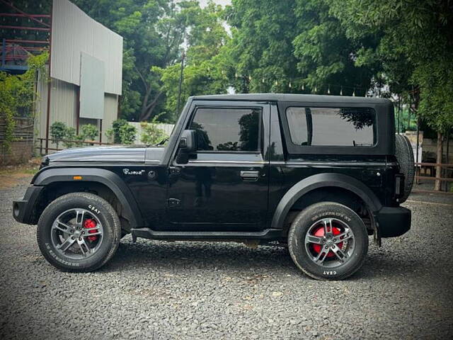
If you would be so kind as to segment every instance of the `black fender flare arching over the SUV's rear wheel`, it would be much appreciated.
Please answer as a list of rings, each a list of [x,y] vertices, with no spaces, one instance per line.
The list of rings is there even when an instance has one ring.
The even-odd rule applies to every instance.
[[[297,182],[285,193],[275,209],[271,228],[282,229],[289,209],[306,193],[317,188],[333,186],[344,188],[362,198],[373,213],[381,210],[382,204],[374,193],[361,181],[343,174],[316,174]]]

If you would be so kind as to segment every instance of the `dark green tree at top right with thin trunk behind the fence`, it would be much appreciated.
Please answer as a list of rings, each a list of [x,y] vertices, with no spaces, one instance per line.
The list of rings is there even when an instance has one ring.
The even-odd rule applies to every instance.
[[[364,49],[357,62],[379,60],[391,90],[437,130],[437,163],[442,135],[453,127],[453,3],[448,0],[328,0],[348,38],[374,35],[379,43]],[[437,166],[436,176],[441,177]],[[436,181],[435,190],[440,189]]]

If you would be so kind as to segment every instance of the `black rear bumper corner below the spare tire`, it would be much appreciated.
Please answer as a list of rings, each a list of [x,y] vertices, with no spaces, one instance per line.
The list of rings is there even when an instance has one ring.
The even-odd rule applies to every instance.
[[[374,216],[380,237],[397,237],[411,229],[411,210],[403,207],[384,207]]]

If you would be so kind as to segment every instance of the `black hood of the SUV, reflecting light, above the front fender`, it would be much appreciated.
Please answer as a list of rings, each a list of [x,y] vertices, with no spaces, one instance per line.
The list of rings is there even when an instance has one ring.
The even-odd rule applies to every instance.
[[[42,164],[52,162],[144,163],[146,151],[147,147],[144,145],[74,148],[48,154],[42,159]]]

